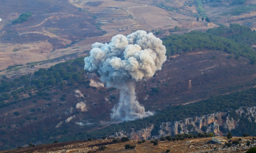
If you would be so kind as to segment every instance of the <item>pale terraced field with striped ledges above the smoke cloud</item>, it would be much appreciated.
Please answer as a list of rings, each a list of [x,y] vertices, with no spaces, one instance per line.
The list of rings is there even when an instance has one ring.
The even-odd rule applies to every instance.
[[[98,20],[98,27],[107,33],[125,30],[150,30],[148,26],[142,24],[123,8],[93,8],[89,11]]]

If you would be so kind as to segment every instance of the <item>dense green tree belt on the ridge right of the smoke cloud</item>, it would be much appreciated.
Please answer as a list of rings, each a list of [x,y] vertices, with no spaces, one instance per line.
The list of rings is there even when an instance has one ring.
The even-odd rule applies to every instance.
[[[224,37],[229,33],[229,37]],[[231,35],[231,33],[233,34]],[[256,62],[256,52],[250,44],[256,41],[255,38],[256,32],[251,31],[250,28],[239,24],[231,24],[229,28],[221,26],[209,29],[206,33],[192,31],[183,35],[171,35],[162,40],[163,45],[166,46],[168,57],[198,49],[210,49],[247,57],[251,60],[251,64],[254,64]]]

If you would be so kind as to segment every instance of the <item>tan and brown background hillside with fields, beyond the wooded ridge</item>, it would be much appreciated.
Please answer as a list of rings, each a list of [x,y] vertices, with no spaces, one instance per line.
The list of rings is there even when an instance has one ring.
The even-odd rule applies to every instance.
[[[69,55],[69,59],[76,58],[77,54],[85,56],[92,43],[108,42],[116,34],[127,35],[136,30],[152,31],[160,37],[192,30],[206,31],[219,25],[229,26],[230,23],[254,30],[256,4],[254,0],[242,2],[48,0],[45,3],[42,0],[2,0],[0,70],[32,62],[44,64],[33,69],[16,69],[18,72],[3,71],[0,75],[23,75],[49,68],[68,60],[64,55]],[[27,12],[32,16],[22,23],[12,24]],[[202,21],[201,17],[209,17],[211,23]]]

